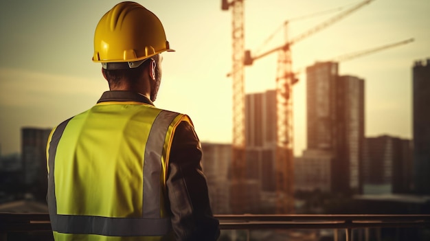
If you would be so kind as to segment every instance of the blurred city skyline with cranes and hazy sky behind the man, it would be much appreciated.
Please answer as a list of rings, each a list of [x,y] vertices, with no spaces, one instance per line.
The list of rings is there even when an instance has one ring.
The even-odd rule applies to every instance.
[[[215,214],[429,214],[430,1],[137,2]],[[108,90],[93,34],[116,3],[0,1],[0,211],[47,211],[47,135]]]

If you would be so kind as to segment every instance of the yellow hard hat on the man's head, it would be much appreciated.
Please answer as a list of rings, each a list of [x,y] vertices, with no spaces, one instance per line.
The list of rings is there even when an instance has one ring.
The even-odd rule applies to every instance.
[[[163,25],[139,3],[118,3],[102,16],[95,28],[93,62],[102,62],[104,67],[110,62],[130,65],[163,51],[174,51]]]

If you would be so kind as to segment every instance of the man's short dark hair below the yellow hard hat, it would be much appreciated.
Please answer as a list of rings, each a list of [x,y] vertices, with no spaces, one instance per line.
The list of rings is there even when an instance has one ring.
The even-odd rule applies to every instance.
[[[155,60],[158,63],[159,54],[152,56],[151,58],[146,59],[142,62],[137,68],[133,69],[102,69],[104,76],[106,76],[106,80],[109,83],[109,87],[115,87],[122,85],[122,82],[126,81],[129,84],[133,85],[139,79],[142,71],[150,65],[150,60]]]

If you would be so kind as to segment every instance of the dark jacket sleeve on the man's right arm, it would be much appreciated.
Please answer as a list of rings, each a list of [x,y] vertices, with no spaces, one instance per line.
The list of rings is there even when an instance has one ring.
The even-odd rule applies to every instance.
[[[170,150],[166,189],[176,240],[217,240],[219,222],[212,215],[202,150],[194,128],[181,122]]]

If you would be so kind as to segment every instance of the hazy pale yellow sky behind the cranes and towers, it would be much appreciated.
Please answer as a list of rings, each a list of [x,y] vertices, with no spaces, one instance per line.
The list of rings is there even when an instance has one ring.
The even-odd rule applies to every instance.
[[[108,89],[93,63],[93,33],[119,1],[0,0],[0,146],[20,152],[21,127],[52,128],[87,110]],[[163,22],[157,107],[190,115],[201,141],[231,141],[231,11],[220,0],[137,1]],[[282,44],[287,19],[350,7],[357,0],[245,0],[245,48]],[[365,79],[365,135],[411,138],[411,68],[430,58],[430,1],[375,0],[293,45],[293,69],[407,38],[413,43],[339,64],[341,74]],[[337,12],[291,21],[294,37]],[[265,40],[277,31],[273,40]],[[245,89],[274,89],[276,54],[247,67]],[[295,154],[306,148],[306,76],[294,87]]]

